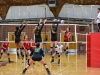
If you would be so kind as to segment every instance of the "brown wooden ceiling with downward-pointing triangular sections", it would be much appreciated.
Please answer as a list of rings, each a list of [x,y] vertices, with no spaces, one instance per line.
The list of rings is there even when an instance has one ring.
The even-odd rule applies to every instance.
[[[50,10],[55,17],[58,16],[61,8],[65,3],[77,5],[100,5],[100,0],[56,0],[57,6],[51,7]],[[7,12],[11,6],[27,6],[47,4],[48,0],[0,0],[0,17],[5,19]]]

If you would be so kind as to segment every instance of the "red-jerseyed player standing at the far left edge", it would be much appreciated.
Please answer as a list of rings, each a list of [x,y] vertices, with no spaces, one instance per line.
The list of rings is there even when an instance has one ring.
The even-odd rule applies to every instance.
[[[2,43],[0,58],[2,57],[3,52],[5,52],[8,56],[8,62],[10,63],[11,62],[10,54],[8,53],[9,42],[7,42],[7,41],[8,41],[8,38],[5,38],[5,42]]]

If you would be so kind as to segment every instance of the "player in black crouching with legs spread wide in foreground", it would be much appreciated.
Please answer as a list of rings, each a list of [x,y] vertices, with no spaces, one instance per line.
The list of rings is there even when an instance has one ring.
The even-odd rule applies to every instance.
[[[42,59],[42,56],[44,57],[44,52],[40,48],[40,44],[39,43],[36,43],[36,48],[34,50],[32,50],[30,56],[32,56],[32,59],[30,60],[29,64],[26,66],[26,68],[23,70],[22,74],[25,74],[25,72],[27,71],[27,69],[29,68],[29,66],[31,64],[33,64],[35,61],[38,61],[38,62],[40,62],[41,64],[44,65],[48,75],[51,75],[46,63]]]

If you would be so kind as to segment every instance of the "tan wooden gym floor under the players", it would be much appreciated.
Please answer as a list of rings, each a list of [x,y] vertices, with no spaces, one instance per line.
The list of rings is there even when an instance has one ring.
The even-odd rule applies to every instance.
[[[6,55],[3,55],[1,60],[7,61],[6,57]],[[11,55],[11,60],[15,61],[15,55]],[[52,64],[50,63],[49,54],[45,55],[44,60],[52,75],[100,75],[100,68],[86,67],[86,54],[69,55],[69,58],[62,54],[61,65],[57,64],[57,56]],[[25,65],[21,64],[21,59],[18,59],[17,63],[14,62],[0,67],[0,75],[22,75],[24,67]],[[47,73],[44,67],[36,62],[35,65],[31,65],[25,75],[47,75]]]

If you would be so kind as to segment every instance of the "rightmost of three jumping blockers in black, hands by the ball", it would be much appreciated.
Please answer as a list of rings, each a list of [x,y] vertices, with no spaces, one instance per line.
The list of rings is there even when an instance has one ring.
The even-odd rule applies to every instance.
[[[53,55],[53,46],[55,46],[55,50],[57,49],[57,29],[58,29],[59,20],[54,19],[53,25],[51,27],[51,43],[50,43],[50,52],[52,55],[51,62],[54,62],[54,55]],[[55,54],[55,53],[54,53]]]

